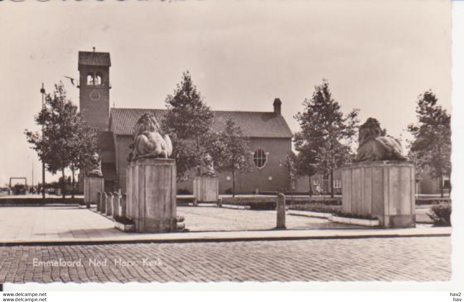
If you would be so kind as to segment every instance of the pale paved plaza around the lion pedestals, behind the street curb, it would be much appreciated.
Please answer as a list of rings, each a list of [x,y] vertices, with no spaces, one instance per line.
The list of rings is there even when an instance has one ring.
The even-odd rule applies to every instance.
[[[190,231],[270,230],[276,225],[275,211],[179,206]],[[109,218],[78,206],[0,207],[0,240],[58,240],[137,236],[114,228]],[[289,229],[353,229],[353,225],[327,219],[287,215]],[[362,228],[362,227],[359,227]]]

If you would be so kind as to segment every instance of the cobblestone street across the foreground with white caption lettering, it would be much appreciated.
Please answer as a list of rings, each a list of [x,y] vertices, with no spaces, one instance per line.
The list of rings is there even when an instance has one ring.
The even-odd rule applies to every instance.
[[[450,237],[13,246],[0,248],[0,283],[445,281],[450,253]]]

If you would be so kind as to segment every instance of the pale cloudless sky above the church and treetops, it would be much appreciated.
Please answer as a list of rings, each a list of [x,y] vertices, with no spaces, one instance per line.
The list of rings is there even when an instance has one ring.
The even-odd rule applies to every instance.
[[[449,0],[5,2],[0,9],[0,186],[40,177],[24,129],[39,129],[39,89],[78,90],[77,52],[111,54],[110,104],[164,108],[189,70],[213,110],[271,111],[292,131],[322,78],[346,113],[377,118],[398,137],[432,89],[451,109]],[[51,179],[51,177],[48,177]]]

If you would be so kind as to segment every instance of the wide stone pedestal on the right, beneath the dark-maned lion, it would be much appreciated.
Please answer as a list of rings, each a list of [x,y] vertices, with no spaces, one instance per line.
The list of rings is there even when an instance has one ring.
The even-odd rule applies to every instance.
[[[370,214],[385,228],[415,225],[414,189],[409,161],[366,161],[342,168],[343,212]]]

